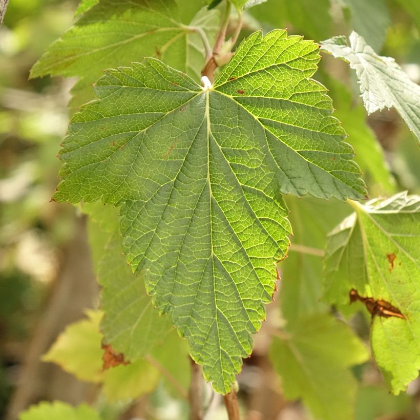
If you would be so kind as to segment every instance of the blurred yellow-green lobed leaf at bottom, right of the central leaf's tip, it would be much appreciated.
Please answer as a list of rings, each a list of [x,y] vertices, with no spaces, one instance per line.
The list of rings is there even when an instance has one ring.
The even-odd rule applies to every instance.
[[[301,398],[323,420],[353,418],[357,384],[349,367],[367,359],[351,329],[327,314],[301,318],[287,337],[275,337],[270,349],[285,397]]]

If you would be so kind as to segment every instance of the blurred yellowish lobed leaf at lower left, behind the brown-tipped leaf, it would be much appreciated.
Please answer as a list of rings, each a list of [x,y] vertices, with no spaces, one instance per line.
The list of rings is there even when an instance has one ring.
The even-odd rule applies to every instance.
[[[103,346],[101,347],[103,336],[99,332],[102,312],[91,310],[88,312],[88,316],[87,320],[70,324],[59,335],[56,342],[44,355],[43,360],[60,365],[62,369],[81,381],[102,384],[102,392],[110,403],[135,400],[140,395],[153,391],[159,380],[167,377],[162,376],[162,372],[166,375],[179,375],[182,385],[187,386],[187,353],[175,331],[167,336],[164,345],[155,346],[145,359],[137,359],[133,363],[123,362],[114,366],[109,365],[104,369],[102,366],[104,350]],[[106,347],[110,348],[110,346]],[[162,349],[165,353],[175,352],[177,358],[160,361]],[[180,371],[180,367],[183,371]],[[172,387],[172,384],[169,385]]]

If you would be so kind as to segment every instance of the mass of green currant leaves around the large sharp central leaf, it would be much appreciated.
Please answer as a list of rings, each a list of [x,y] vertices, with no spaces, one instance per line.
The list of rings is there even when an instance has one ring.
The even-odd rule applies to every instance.
[[[367,352],[329,305],[348,306],[355,289],[369,302],[401,311],[402,317],[368,316],[377,365],[394,393],[406,389],[420,368],[418,197],[350,201],[367,199],[367,190],[348,143],[380,191],[393,193],[395,182],[363,107],[352,108],[350,93],[331,81],[339,104],[333,116],[326,88],[311,79],[320,59],[313,41],[280,29],[250,33],[216,71],[213,85],[200,84],[209,53],[202,32],[213,46],[226,2],[207,2],[201,10],[191,3],[85,0],[76,24],[31,72],[78,76],[73,105],[93,97],[95,82],[96,99],[71,119],[54,199],[83,201],[90,216],[103,340],[134,366],[149,366],[152,358],[182,376],[159,347],[160,340],[174,340],[167,335],[173,324],[206,380],[227,393],[252,351],[251,334],[265,319],[279,270],[286,325],[275,334],[270,356],[285,395],[302,398],[316,417],[351,418],[357,387],[349,368],[365,362]],[[258,6],[254,16],[276,25],[281,6],[296,28],[317,39],[330,36],[328,1],[310,14],[307,0],[260,3],[229,4],[238,22],[243,8]],[[384,6],[372,27],[365,7],[382,0],[340,4],[350,10],[351,26],[372,34],[379,48],[389,13]],[[356,70],[368,113],[395,107],[420,138],[418,86],[392,59],[376,55],[355,32],[350,46],[334,37],[322,48]],[[290,225],[282,194],[351,206],[288,197],[295,213]],[[328,236],[324,280],[325,233],[352,207],[355,213]],[[280,263],[292,227],[290,258]],[[159,317],[167,312],[171,317]],[[71,370],[53,350],[49,360]],[[124,368],[115,377],[131,383]],[[159,375],[153,368],[149,373],[154,386]],[[106,382],[104,390],[117,392],[107,391]]]

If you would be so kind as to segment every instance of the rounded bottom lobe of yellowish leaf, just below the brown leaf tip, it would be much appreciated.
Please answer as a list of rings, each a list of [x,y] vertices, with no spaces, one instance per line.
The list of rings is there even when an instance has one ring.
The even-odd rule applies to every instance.
[[[103,393],[109,402],[135,400],[152,392],[160,379],[160,372],[146,360],[119,365],[103,372]]]

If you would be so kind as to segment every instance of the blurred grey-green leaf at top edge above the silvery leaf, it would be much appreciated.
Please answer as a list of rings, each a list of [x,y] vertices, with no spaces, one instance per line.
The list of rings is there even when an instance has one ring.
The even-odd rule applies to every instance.
[[[381,50],[391,18],[384,0],[340,0],[350,8],[351,29],[363,38],[369,39],[370,46]],[[374,18],[372,18],[374,16]]]

